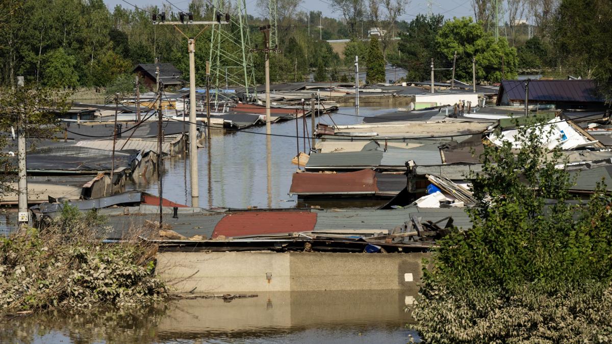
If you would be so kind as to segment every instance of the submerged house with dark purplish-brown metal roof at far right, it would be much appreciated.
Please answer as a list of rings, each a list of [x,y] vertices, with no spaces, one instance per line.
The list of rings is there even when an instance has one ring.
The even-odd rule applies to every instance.
[[[529,105],[550,104],[558,109],[601,110],[605,100],[593,80],[503,80],[496,105],[524,105],[529,82]]]

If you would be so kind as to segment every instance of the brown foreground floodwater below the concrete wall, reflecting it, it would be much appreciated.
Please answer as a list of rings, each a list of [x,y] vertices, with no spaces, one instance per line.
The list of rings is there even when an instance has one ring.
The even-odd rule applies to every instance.
[[[126,312],[48,312],[0,323],[0,342],[407,343],[417,338],[406,327],[411,297],[396,290],[266,292]]]

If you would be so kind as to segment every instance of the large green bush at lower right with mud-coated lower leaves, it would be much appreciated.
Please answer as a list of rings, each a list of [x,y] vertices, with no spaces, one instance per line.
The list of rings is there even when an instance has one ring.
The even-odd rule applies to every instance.
[[[516,140],[485,146],[475,176],[470,230],[439,241],[414,312],[425,341],[609,342],[612,327],[612,199],[600,187],[587,204],[568,193],[542,149],[542,122]],[[554,201],[551,201],[554,200]]]

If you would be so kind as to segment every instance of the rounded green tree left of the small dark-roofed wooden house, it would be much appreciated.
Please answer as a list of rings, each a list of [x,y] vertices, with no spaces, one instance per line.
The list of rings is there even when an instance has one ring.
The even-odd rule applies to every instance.
[[[63,48],[45,54],[43,84],[49,88],[75,88],[78,75],[75,71],[76,59],[65,53]]]

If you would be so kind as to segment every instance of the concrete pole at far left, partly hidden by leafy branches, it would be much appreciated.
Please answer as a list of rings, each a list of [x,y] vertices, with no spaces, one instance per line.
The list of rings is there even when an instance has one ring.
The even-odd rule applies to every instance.
[[[20,92],[21,88],[23,88],[23,77],[17,77],[17,92]],[[30,214],[28,212],[28,173],[26,166],[26,118],[24,118],[25,114],[19,112],[17,116],[19,116],[17,119],[17,168],[19,170],[17,224],[21,227],[29,224]]]

